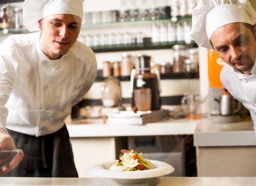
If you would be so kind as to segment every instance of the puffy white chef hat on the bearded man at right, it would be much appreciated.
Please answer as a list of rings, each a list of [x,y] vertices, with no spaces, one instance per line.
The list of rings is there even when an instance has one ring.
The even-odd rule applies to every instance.
[[[218,28],[229,23],[254,25],[256,12],[247,0],[201,0],[192,15],[191,37],[199,46],[212,48],[210,38]]]

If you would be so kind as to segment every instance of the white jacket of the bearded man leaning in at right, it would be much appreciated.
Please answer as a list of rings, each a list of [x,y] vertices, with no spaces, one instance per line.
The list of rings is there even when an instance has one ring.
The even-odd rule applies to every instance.
[[[252,75],[235,72],[233,67],[226,64],[222,67],[220,79],[230,94],[249,110],[256,131],[256,62],[251,73]]]

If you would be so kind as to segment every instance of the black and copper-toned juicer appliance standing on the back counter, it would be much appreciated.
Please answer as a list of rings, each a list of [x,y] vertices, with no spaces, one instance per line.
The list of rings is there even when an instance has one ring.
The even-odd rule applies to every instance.
[[[160,75],[150,67],[150,56],[140,55],[136,69],[131,73],[132,107],[138,111],[161,108]]]

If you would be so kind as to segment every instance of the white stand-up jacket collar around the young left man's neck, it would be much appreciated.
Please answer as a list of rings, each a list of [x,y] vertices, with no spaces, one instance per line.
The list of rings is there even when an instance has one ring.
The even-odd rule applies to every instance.
[[[68,53],[61,56],[61,58],[59,58],[58,60],[50,60],[49,57],[47,57],[41,47],[40,47],[40,36],[41,36],[41,31],[38,31],[37,32],[37,36],[36,36],[36,51],[37,51],[37,54],[38,54],[38,57],[39,57],[39,60],[41,62],[44,62],[44,61],[47,61],[47,62],[53,62],[53,63],[58,63],[58,62],[63,62],[63,58],[67,58],[70,56],[70,50],[71,48],[69,49]]]

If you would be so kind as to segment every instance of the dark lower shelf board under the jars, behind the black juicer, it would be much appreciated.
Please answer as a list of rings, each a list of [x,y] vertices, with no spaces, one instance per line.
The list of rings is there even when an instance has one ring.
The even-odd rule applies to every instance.
[[[98,70],[95,82],[102,82],[106,77],[102,77],[102,70]],[[120,81],[130,81],[130,76],[116,77]],[[161,80],[166,79],[198,79],[199,72],[180,72],[180,73],[170,73],[170,74],[160,74]]]

